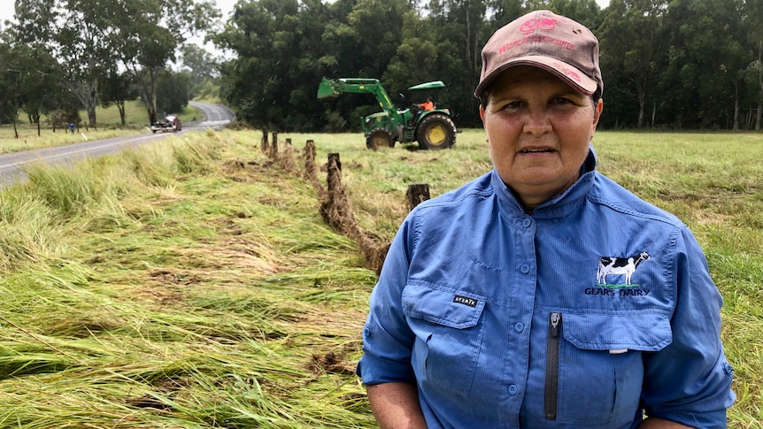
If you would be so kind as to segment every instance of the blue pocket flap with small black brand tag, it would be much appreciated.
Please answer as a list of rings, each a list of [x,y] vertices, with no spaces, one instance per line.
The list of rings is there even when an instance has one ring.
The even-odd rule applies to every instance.
[[[405,316],[456,329],[477,325],[485,308],[482,296],[418,284],[405,286],[402,301]]]

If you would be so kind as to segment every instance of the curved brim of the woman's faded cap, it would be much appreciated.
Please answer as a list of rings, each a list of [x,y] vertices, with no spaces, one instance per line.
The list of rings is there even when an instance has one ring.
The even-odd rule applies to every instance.
[[[528,56],[514,58],[512,61],[493,70],[480,82],[477,88],[474,89],[474,96],[478,98],[482,96],[485,89],[489,87],[493,80],[496,80],[499,74],[504,73],[506,70],[517,65],[531,65],[542,68],[547,72],[555,74],[559,79],[564,80],[569,86],[575,88],[586,96],[592,95],[596,92],[598,87],[596,80],[591,79],[588,75],[582,73],[572,65],[566,64],[564,61],[559,61],[559,59],[552,57]]]

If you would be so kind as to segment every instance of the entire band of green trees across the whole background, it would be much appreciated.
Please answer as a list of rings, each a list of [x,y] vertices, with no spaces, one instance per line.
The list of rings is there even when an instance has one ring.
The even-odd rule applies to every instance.
[[[481,50],[498,27],[550,9],[590,27],[605,80],[602,128],[760,130],[763,0],[240,0],[227,22],[210,0],[16,0],[0,33],[0,121],[19,110],[123,106],[139,96],[154,121],[187,101],[198,74],[173,71],[214,58],[189,35],[206,32],[230,59],[221,99],[250,126],[357,131],[379,111],[369,95],[319,100],[320,80],[375,78],[399,107],[406,88],[443,80],[438,105],[457,126],[481,126],[472,96]],[[194,65],[195,64],[195,65]],[[198,83],[197,81],[195,83]],[[123,107],[122,107],[123,108]],[[14,122],[15,123],[15,122]]]

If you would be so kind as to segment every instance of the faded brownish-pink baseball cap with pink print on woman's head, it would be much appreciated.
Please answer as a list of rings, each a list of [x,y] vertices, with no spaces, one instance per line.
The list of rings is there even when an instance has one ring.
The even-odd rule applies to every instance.
[[[588,96],[604,91],[598,40],[587,27],[552,11],[532,11],[499,28],[482,48],[482,73],[474,96],[514,65],[554,73]]]

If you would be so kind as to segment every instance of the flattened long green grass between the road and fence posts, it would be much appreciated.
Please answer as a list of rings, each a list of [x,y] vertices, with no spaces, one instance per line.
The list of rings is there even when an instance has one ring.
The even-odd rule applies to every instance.
[[[229,138],[4,192],[62,244],[0,279],[0,427],[373,426],[351,372],[374,274],[311,188]]]

